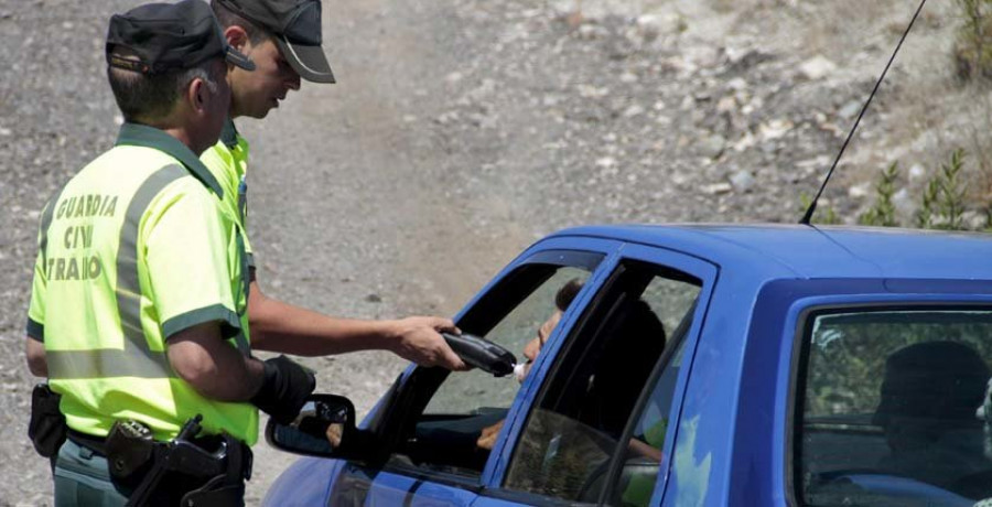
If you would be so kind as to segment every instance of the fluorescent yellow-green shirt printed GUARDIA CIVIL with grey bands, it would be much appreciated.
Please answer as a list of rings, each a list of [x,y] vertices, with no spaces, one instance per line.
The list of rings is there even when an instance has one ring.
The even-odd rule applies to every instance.
[[[257,440],[255,407],[203,398],[165,355],[170,336],[206,322],[249,354],[247,255],[224,194],[184,144],[126,123],[50,201],[28,334],[69,428],[106,435],[131,418],[169,440],[201,413],[207,434]]]

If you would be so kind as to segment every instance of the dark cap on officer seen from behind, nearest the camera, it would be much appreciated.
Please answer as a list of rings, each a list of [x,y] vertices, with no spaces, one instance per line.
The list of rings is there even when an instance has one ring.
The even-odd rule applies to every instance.
[[[138,60],[111,54],[126,47]],[[110,18],[107,63],[142,74],[190,68],[205,60],[225,57],[247,71],[255,63],[227,44],[211,7],[203,0],[147,3]]]

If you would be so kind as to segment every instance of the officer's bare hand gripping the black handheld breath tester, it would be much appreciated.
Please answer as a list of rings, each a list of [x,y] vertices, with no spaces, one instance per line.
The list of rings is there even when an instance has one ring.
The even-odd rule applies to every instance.
[[[393,330],[397,339],[391,350],[403,359],[420,366],[441,366],[455,371],[468,369],[440,334],[461,334],[451,320],[412,316],[395,321]]]

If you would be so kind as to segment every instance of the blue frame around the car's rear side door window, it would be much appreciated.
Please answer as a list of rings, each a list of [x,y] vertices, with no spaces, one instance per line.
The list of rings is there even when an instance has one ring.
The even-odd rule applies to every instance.
[[[656,478],[655,489],[651,495],[651,505],[656,505],[658,501],[660,501],[661,495],[664,494],[670,475],[672,464],[670,456],[673,455],[673,446],[678,435],[678,421],[681,417],[686,388],[692,370],[692,362],[696,356],[696,349],[699,345],[702,328],[705,324],[707,312],[709,310],[716,283],[719,281],[720,268],[718,265],[710,262],[709,260],[691,256],[676,249],[648,246],[636,242],[624,244],[617,250],[616,255],[612,259],[610,259],[608,266],[600,266],[600,270],[604,271],[604,280],[597,285],[594,294],[585,294],[586,296],[592,299],[592,301],[583,304],[581,309],[574,309],[575,313],[581,311],[581,314],[575,315],[573,313],[572,315],[572,317],[576,322],[572,323],[572,325],[570,325],[567,331],[562,330],[562,332],[567,334],[561,339],[558,339],[557,343],[552,344],[553,350],[549,350],[552,352],[552,354],[549,354],[549,357],[546,357],[541,365],[536,365],[533,370],[531,370],[531,375],[535,378],[541,379],[541,385],[533,386],[530,389],[530,392],[527,393],[528,396],[526,412],[516,413],[515,420],[511,423],[509,423],[508,421],[508,425],[511,424],[510,428],[504,428],[504,432],[508,431],[508,434],[504,439],[504,442],[502,442],[503,445],[500,449],[500,459],[497,462],[498,467],[496,471],[494,471],[492,481],[488,483],[489,486],[484,487],[479,492],[479,495],[498,499],[522,501],[532,505],[596,505],[576,503],[574,500],[565,500],[536,493],[508,489],[503,487],[503,484],[506,481],[509,463],[513,459],[513,453],[516,451],[516,445],[519,442],[520,433],[526,425],[527,418],[530,416],[530,412],[535,407],[535,400],[540,397],[543,388],[547,385],[546,381],[553,376],[553,371],[550,371],[550,369],[557,366],[556,359],[567,352],[563,350],[562,347],[564,347],[564,344],[570,342],[569,338],[571,338],[575,333],[581,333],[586,324],[586,319],[589,319],[590,315],[596,313],[597,306],[600,304],[604,304],[603,301],[600,301],[600,298],[610,290],[608,285],[611,284],[611,282],[615,281],[615,279],[622,274],[622,270],[624,269],[623,265],[625,261],[638,261],[656,265],[661,269],[668,269],[690,276],[699,280],[700,282],[697,303],[692,309],[692,321],[688,330],[686,330],[684,334],[680,337],[680,339],[684,342],[684,350],[682,353],[682,367],[679,370],[678,381],[676,382],[675,391],[672,393],[671,407],[669,408],[670,423],[668,429],[666,430],[665,444],[662,445],[662,461],[658,465],[658,477]],[[573,309],[570,309],[570,311],[572,310]],[[655,384],[660,378],[665,366],[669,364],[673,350],[676,350],[677,348],[678,343],[676,342],[671,342],[666,346],[666,350],[662,353],[661,357],[659,357],[658,363],[651,370],[645,389],[641,391],[641,395],[632,411],[632,417],[627,421],[623,436],[629,439],[629,435],[634,430],[634,425],[636,424],[636,421],[634,421],[634,419],[637,419],[640,416],[644,410],[644,406],[645,403],[647,403],[650,396],[651,389],[648,389],[647,387],[655,386]],[[540,357],[539,360],[541,360]],[[533,375],[535,373],[537,373],[538,375]],[[607,476],[607,481],[603,486],[603,490],[601,492],[599,505],[603,504],[604,499],[615,487],[615,483],[618,479],[619,456],[622,456],[623,454],[621,452],[621,449],[622,446],[617,449],[613,456],[611,456],[610,471],[607,472],[610,475]],[[494,452],[495,451],[496,449],[494,449]]]

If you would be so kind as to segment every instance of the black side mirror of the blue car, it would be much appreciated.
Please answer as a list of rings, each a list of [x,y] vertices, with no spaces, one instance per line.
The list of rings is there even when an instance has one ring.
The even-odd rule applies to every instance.
[[[367,460],[374,452],[368,435],[355,425],[352,400],[336,395],[310,395],[292,422],[269,419],[266,425],[266,441],[273,447],[319,457]]]

